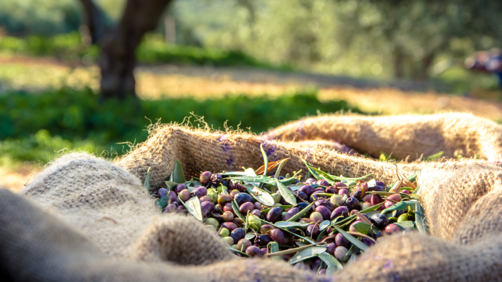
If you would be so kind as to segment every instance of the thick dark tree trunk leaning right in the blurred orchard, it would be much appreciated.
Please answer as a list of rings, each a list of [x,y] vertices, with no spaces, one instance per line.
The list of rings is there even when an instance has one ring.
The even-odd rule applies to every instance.
[[[136,97],[134,68],[136,48],[143,35],[159,23],[171,0],[129,0],[118,27],[103,40],[101,50],[101,98]]]

